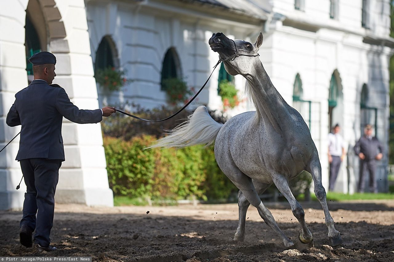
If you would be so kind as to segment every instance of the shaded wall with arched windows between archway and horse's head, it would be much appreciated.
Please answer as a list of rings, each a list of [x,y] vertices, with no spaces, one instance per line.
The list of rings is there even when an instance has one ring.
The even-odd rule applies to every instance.
[[[127,71],[127,78],[133,80],[121,92],[108,94],[98,87],[100,105],[129,102],[153,108],[165,104],[165,92],[160,90],[160,77],[165,52],[171,47],[177,51],[181,76],[197,92],[218,60],[217,53],[208,45],[212,33],[223,32],[230,38],[247,39],[251,34],[257,37],[262,30],[261,25],[215,17],[202,18],[204,13],[187,8],[171,8],[170,5],[159,5],[155,1],[126,4],[90,0],[86,9],[93,61],[100,41],[109,35],[115,43],[120,67]],[[227,17],[231,18],[231,15]],[[251,40],[254,43],[256,39]],[[218,73],[219,68],[196,99],[196,104],[208,104],[212,109],[223,108],[221,98],[217,95]],[[235,81],[240,95],[245,98],[243,78],[236,76]],[[245,101],[229,113],[234,115],[246,108]]]

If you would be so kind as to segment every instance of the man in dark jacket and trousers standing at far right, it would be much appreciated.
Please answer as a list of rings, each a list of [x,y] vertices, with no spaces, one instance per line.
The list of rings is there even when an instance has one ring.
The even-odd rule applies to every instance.
[[[372,126],[366,125],[364,136],[357,141],[354,152],[360,158],[360,180],[357,188],[358,192],[364,192],[365,172],[370,174],[370,192],[377,193],[377,181],[375,177],[376,160],[383,157],[383,147],[376,137],[372,136]]]

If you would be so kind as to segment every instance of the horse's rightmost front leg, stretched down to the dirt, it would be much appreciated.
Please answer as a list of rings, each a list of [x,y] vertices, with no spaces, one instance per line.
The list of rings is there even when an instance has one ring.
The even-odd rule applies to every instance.
[[[342,244],[342,238],[338,230],[334,227],[334,220],[331,217],[330,211],[328,210],[325,189],[322,184],[322,167],[320,165],[319,157],[314,155],[307,166],[307,171],[312,174],[315,195],[323,207],[325,224],[328,227],[328,239],[330,246],[339,246]]]

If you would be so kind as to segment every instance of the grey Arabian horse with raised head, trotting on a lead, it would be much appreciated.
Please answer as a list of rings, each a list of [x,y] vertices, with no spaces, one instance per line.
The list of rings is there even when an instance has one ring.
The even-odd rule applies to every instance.
[[[328,227],[331,246],[342,244],[334,227],[322,185],[322,168],[318,151],[305,121],[282,98],[256,57],[263,42],[260,32],[256,43],[230,40],[223,33],[209,39],[210,47],[218,52],[231,75],[245,77],[256,111],[245,112],[229,119],[224,125],[214,121],[205,106],[199,106],[188,121],[159,139],[152,147],[188,147],[210,145],[215,141],[215,158],[223,173],[240,189],[238,193],[239,224],[234,240],[245,236],[245,216],[250,204],[257,208],[262,219],[283,240],[284,246],[294,244],[284,235],[271,212],[261,202],[262,194],[272,183],[290,203],[294,216],[301,224],[299,240],[312,241],[305,213],[290,191],[288,181],[302,172],[312,174],[316,198],[320,201]]]

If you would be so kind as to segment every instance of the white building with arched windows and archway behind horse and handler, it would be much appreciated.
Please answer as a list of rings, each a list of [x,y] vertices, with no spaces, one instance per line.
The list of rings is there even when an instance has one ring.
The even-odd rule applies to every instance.
[[[208,45],[212,33],[254,43],[262,31],[260,59],[277,90],[309,125],[325,188],[329,126],[342,127],[348,152],[335,191],[352,193],[358,181],[352,148],[370,123],[385,146],[377,179],[379,191],[387,191],[388,59],[394,46],[388,0],[1,0],[1,5],[0,146],[19,132],[6,126],[5,116],[13,95],[28,84],[25,54],[36,50],[28,46],[56,55],[55,80],[80,108],[131,103],[153,108],[167,103],[164,78],[183,79],[195,90],[204,84],[218,60]],[[24,30],[31,28],[26,13],[38,37]],[[36,38],[39,43],[31,43]],[[105,66],[124,70],[131,81],[120,91],[104,90],[93,75]],[[223,108],[219,77],[218,68],[197,104]],[[231,81],[243,102],[228,114],[253,110],[243,95],[243,78]],[[67,160],[56,200],[111,205],[100,125],[65,121],[63,137]],[[14,189],[21,176],[13,160],[17,148],[15,140],[6,157],[0,155],[3,209],[22,204],[23,192]]]

